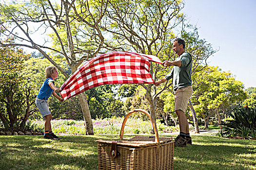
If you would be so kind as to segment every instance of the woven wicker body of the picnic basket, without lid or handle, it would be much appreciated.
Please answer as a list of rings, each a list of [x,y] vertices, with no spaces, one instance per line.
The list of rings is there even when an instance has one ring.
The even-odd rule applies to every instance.
[[[131,148],[118,146],[120,155],[110,157],[111,144],[98,143],[98,170],[173,170],[174,142]]]

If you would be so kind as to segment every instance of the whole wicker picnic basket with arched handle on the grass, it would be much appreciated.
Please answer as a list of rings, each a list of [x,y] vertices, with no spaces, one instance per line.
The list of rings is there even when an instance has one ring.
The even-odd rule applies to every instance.
[[[123,140],[124,126],[135,112],[146,114],[156,136],[135,136]],[[173,170],[174,141],[171,137],[158,137],[156,122],[142,109],[130,111],[124,118],[120,141],[97,140],[98,170]]]

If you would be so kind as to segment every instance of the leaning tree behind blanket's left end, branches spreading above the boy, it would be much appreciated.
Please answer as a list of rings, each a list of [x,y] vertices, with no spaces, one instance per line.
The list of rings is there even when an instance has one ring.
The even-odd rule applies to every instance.
[[[0,35],[12,35],[17,39],[15,43],[1,42],[0,45],[27,47],[39,51],[67,79],[69,75],[45,51],[64,57],[71,73],[83,61],[96,56],[104,41],[98,24],[105,14],[107,3],[105,0],[31,0],[30,3],[0,4],[0,26],[6,30]],[[92,10],[94,5],[101,7],[99,11]],[[35,32],[49,33],[50,37],[45,42],[37,42],[32,36]],[[54,42],[54,46],[48,43],[50,40]],[[86,97],[84,94],[79,94],[78,97],[86,134],[93,135],[93,123]]]

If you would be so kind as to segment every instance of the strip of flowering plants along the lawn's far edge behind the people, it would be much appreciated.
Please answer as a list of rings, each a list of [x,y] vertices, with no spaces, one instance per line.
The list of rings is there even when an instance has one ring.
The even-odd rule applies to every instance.
[[[93,119],[94,134],[119,134],[123,118]],[[43,132],[43,120],[30,120],[31,125]],[[52,130],[56,134],[86,135],[83,120],[53,119]],[[166,126],[157,120],[158,133],[176,132],[178,127]],[[149,121],[140,119],[128,119],[124,128],[125,134],[150,134],[151,124]]]

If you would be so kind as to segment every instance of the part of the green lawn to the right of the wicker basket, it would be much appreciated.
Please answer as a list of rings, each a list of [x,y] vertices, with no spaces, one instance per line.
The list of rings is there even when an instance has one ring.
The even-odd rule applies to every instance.
[[[194,144],[175,147],[176,170],[255,170],[256,141],[193,136]]]

